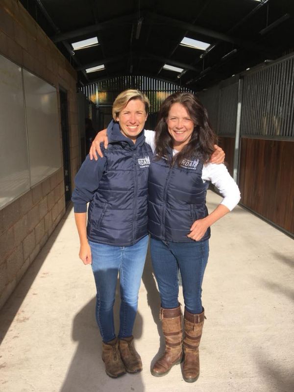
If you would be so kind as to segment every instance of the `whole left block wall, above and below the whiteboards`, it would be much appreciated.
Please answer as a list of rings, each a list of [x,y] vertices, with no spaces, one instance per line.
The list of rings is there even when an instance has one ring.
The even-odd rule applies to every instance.
[[[0,53],[54,84],[57,92],[59,86],[67,91],[73,184],[79,166],[76,72],[17,0],[0,2]],[[0,308],[64,214],[63,168],[0,210]]]

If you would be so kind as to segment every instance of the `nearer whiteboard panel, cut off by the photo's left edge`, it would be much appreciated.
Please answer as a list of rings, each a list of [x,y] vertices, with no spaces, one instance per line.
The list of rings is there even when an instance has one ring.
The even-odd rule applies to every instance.
[[[0,55],[0,207],[29,188],[22,69]]]

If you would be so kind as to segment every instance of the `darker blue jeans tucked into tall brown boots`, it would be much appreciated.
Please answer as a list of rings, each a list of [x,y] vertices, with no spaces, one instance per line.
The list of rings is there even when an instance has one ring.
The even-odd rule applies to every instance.
[[[150,250],[161,306],[166,309],[178,306],[180,269],[185,307],[192,314],[201,313],[201,286],[208,260],[208,240],[176,243],[151,238]]]

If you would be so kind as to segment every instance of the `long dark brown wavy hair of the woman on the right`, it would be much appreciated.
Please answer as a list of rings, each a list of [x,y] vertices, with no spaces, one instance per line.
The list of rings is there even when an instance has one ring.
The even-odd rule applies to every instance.
[[[173,148],[173,139],[166,123],[172,104],[180,103],[189,113],[194,123],[191,139],[186,146],[179,151],[174,159],[168,153],[168,147]],[[194,94],[177,92],[166,98],[161,104],[158,122],[155,127],[155,144],[157,158],[166,158],[171,164],[178,165],[183,159],[198,158],[200,161],[210,160],[217,143],[217,137],[211,128],[207,110]]]

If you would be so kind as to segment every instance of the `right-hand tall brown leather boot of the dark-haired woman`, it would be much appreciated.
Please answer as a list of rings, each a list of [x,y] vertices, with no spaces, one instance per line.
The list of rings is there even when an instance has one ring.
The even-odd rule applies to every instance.
[[[183,378],[187,383],[194,383],[199,377],[199,344],[202,335],[203,324],[204,309],[199,315],[193,315],[185,309]]]

